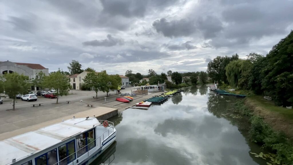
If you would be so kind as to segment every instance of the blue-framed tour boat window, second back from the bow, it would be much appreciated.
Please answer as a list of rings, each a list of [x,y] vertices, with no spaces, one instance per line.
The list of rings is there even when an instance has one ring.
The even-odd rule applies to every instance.
[[[74,140],[58,147],[60,165],[69,164],[75,159]],[[71,155],[72,154],[72,155]]]

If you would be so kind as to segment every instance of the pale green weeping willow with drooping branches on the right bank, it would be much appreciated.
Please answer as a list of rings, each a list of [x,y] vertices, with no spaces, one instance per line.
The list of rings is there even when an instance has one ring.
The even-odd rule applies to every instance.
[[[251,68],[251,61],[249,60],[234,60],[231,61],[225,68],[227,80],[231,87],[236,87],[241,74]]]

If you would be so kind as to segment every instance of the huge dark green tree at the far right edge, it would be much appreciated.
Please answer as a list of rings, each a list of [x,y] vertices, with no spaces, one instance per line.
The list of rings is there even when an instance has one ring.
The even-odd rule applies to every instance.
[[[262,88],[277,105],[293,105],[293,31],[267,54]]]

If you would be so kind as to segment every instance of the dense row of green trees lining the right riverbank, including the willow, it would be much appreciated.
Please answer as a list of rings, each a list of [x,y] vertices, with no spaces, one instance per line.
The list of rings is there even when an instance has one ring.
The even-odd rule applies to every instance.
[[[246,60],[237,54],[217,56],[207,67],[213,81],[270,96],[278,106],[293,105],[293,31],[266,56],[250,53]]]

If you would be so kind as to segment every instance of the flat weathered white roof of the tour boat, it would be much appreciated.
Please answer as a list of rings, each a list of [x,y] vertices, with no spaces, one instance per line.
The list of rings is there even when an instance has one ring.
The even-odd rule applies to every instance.
[[[73,118],[1,141],[0,164],[10,164],[12,159],[24,159],[97,125],[100,122],[95,117]]]

